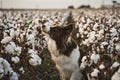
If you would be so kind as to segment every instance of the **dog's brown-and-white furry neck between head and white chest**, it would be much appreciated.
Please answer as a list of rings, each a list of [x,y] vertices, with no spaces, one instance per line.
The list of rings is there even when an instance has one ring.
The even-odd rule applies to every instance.
[[[59,56],[61,54],[65,55],[65,56],[70,56],[71,52],[76,47],[77,47],[77,45],[76,45],[74,39],[72,39],[70,36],[67,39],[67,41],[65,41],[65,43],[62,43],[59,40],[54,41],[52,39],[49,39],[49,41],[48,41],[48,49],[49,49],[50,53],[55,56]]]

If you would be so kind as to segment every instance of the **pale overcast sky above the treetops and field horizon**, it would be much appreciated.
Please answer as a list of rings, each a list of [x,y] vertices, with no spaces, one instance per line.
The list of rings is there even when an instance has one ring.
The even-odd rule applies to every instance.
[[[67,8],[73,5],[75,8],[80,5],[91,5],[92,7],[99,7],[102,3],[112,4],[112,0],[0,0],[2,1],[2,8]],[[119,0],[117,0],[119,1]]]

